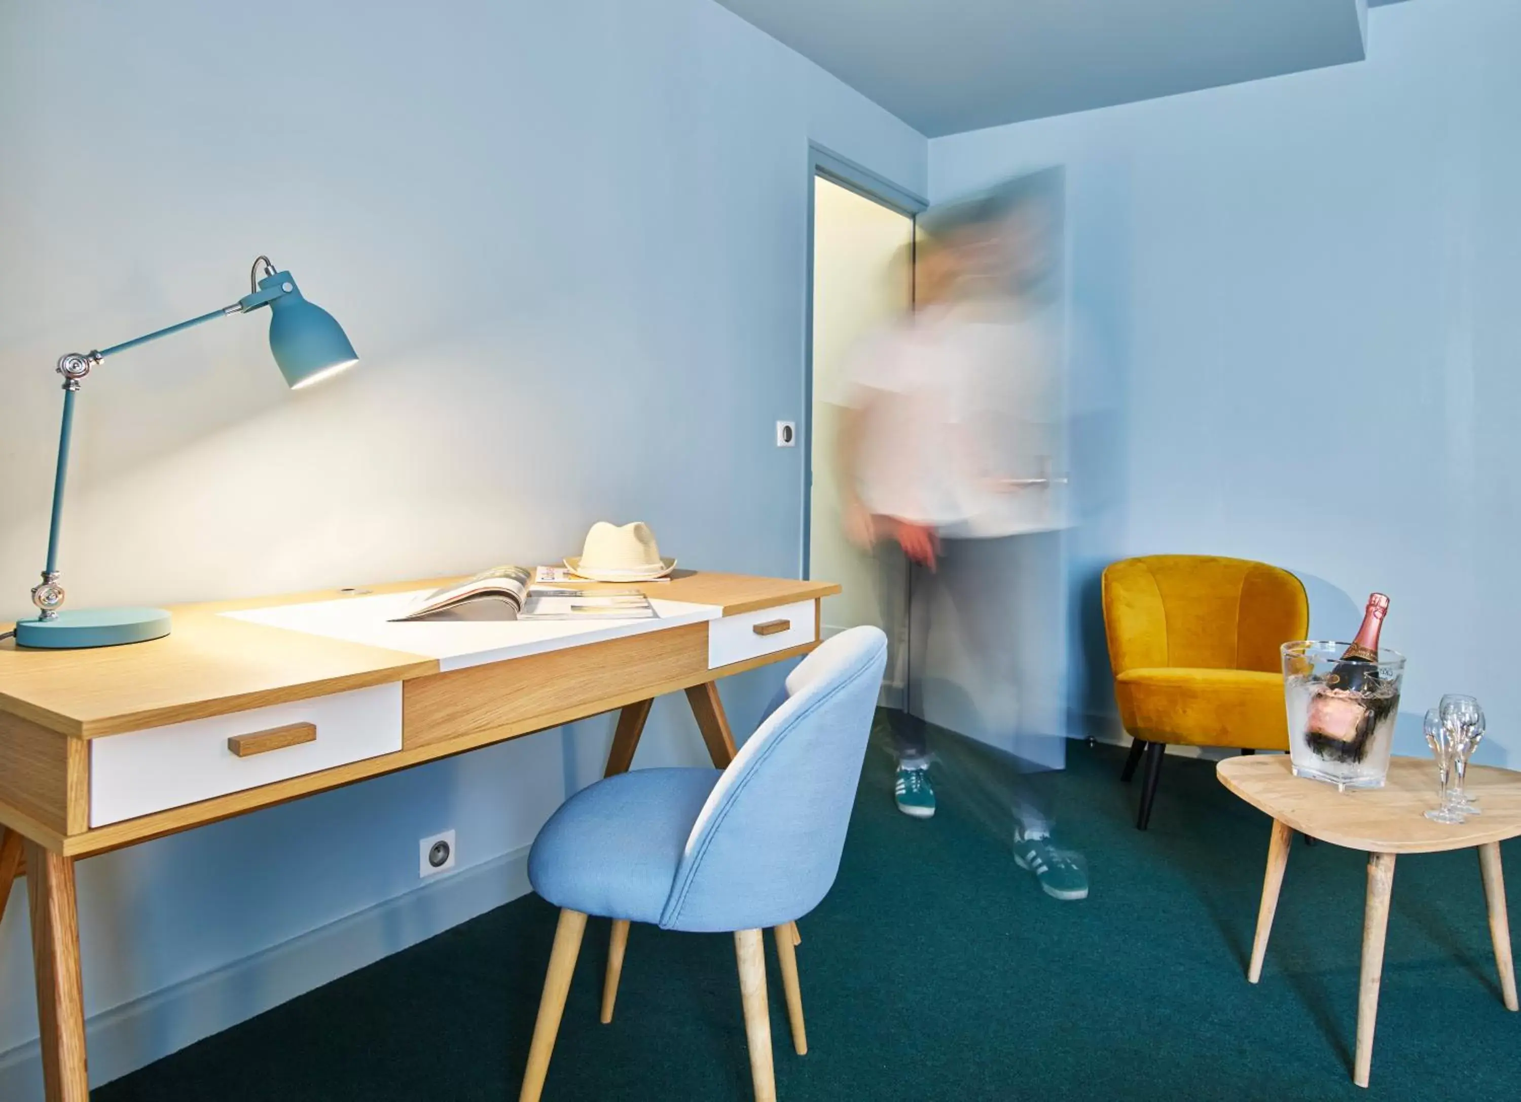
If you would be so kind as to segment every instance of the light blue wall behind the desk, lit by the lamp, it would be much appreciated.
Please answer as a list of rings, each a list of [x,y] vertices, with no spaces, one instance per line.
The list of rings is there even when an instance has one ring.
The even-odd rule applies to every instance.
[[[0,619],[46,538],[53,360],[231,302],[259,252],[362,366],[291,394],[265,324],[234,318],[96,372],[62,547],[78,603],[549,561],[604,517],[684,564],[795,575],[803,451],[773,423],[803,412],[811,140],[926,188],[919,134],[707,0],[0,0]],[[724,686],[736,730],[776,676]],[[608,736],[84,863],[87,1003],[116,1008],[96,1079],[511,895]],[[639,763],[700,754],[663,702]],[[459,883],[485,872],[388,904],[447,827]],[[319,955],[272,948],[339,920]],[[27,1096],[26,936],[14,901],[6,1097]]]

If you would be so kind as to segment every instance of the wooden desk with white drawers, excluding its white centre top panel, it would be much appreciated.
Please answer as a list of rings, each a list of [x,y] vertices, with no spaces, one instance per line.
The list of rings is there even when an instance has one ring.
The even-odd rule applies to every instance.
[[[681,573],[642,588],[710,619],[468,664],[230,616],[450,579],[183,605],[170,635],[120,648],[0,643],[0,915],[24,853],[49,1102],[88,1100],[82,857],[613,710],[621,772],[675,690],[727,765],[715,682],[814,649],[818,600],[840,587]]]

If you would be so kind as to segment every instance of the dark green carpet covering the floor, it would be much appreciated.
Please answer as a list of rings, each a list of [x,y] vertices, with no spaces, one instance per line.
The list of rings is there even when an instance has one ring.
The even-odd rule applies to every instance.
[[[767,939],[783,1102],[1521,1094],[1521,1015],[1500,1003],[1472,853],[1399,859],[1360,1091],[1363,856],[1296,842],[1250,986],[1267,819],[1209,763],[1168,758],[1139,833],[1121,762],[1072,743],[1066,772],[1034,778],[1092,877],[1086,901],[1056,903],[986,816],[958,813],[955,781],[937,818],[899,815],[873,749],[840,879],[800,923],[808,1056],[792,1053]],[[554,923],[537,897],[517,900],[94,1097],[516,1099]],[[732,938],[634,927],[610,1026],[598,1023],[605,952],[607,923],[592,920],[545,1097],[748,1099]]]

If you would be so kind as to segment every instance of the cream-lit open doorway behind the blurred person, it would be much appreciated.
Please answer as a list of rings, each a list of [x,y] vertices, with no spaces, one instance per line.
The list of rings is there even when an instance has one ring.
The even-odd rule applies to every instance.
[[[876,559],[852,544],[841,520],[837,476],[840,407],[849,389],[850,357],[872,333],[913,309],[914,217],[923,202],[856,166],[814,150],[811,163],[811,304],[808,432],[805,462],[803,576],[827,578],[841,593],[821,608],[823,637],[858,625],[907,634],[907,620],[884,625],[878,587],[891,585],[908,602],[908,573],[878,578]],[[893,654],[882,702],[907,701],[907,638]]]

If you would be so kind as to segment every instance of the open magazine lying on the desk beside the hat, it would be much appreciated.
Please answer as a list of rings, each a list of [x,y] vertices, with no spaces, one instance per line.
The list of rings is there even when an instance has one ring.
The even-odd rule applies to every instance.
[[[648,620],[654,606],[639,590],[535,585],[528,567],[493,567],[418,597],[392,623],[488,606],[493,620]]]

